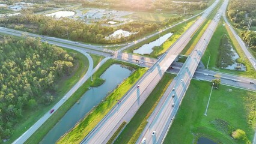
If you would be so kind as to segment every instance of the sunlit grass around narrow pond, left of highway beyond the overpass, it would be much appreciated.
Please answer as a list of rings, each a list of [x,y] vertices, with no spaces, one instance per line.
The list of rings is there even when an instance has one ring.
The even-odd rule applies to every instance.
[[[162,55],[166,50],[169,49],[172,44],[175,43],[175,41],[178,40],[178,38],[184,33],[184,31],[186,31],[196,21],[196,19],[198,19],[198,17],[190,19],[186,23],[181,23],[180,25],[174,26],[174,28],[171,28],[168,31],[160,33],[160,36],[168,34],[169,32],[172,32],[173,35],[169,37],[168,40],[166,40],[165,43],[163,43],[160,47],[154,47],[153,52],[151,52],[150,55],[146,56],[149,56],[151,58],[157,58],[158,56]],[[150,43],[151,41],[157,40],[157,38],[159,38],[159,35],[154,35],[147,40],[134,44],[133,46],[129,47],[124,51],[128,53],[133,53],[133,50],[139,49],[139,47],[143,46],[144,44]]]

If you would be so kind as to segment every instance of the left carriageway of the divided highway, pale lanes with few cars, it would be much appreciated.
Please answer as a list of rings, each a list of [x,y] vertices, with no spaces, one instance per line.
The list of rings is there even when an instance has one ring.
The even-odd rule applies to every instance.
[[[82,140],[81,143],[106,143],[115,133],[123,121],[129,122],[135,115],[139,106],[147,99],[150,92],[157,85],[163,73],[174,61],[177,55],[184,49],[187,43],[197,31],[201,23],[204,22],[213,8],[219,1],[215,1],[212,6],[207,8],[206,12],[197,20],[181,37],[174,43],[170,49],[162,55],[157,64],[148,70],[144,76],[133,86],[132,89],[123,97],[121,103],[116,105],[99,124]],[[137,86],[139,85],[139,87]]]

